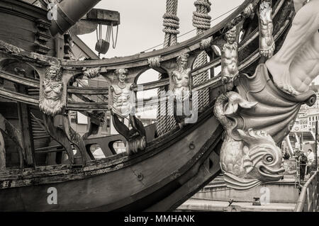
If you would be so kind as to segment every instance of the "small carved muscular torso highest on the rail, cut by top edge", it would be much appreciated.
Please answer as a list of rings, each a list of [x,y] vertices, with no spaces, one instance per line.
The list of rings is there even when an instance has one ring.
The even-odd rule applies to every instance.
[[[272,0],[263,0],[259,7],[259,50],[264,57],[272,57],[275,50],[272,23]]]

